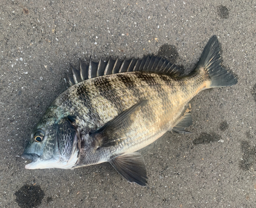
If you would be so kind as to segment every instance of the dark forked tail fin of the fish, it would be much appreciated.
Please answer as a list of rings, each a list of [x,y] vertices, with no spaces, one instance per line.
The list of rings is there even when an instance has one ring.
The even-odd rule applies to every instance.
[[[203,68],[209,74],[210,88],[232,86],[238,82],[232,74],[221,67],[221,62],[219,41],[214,35],[204,48],[196,67],[196,71]]]

